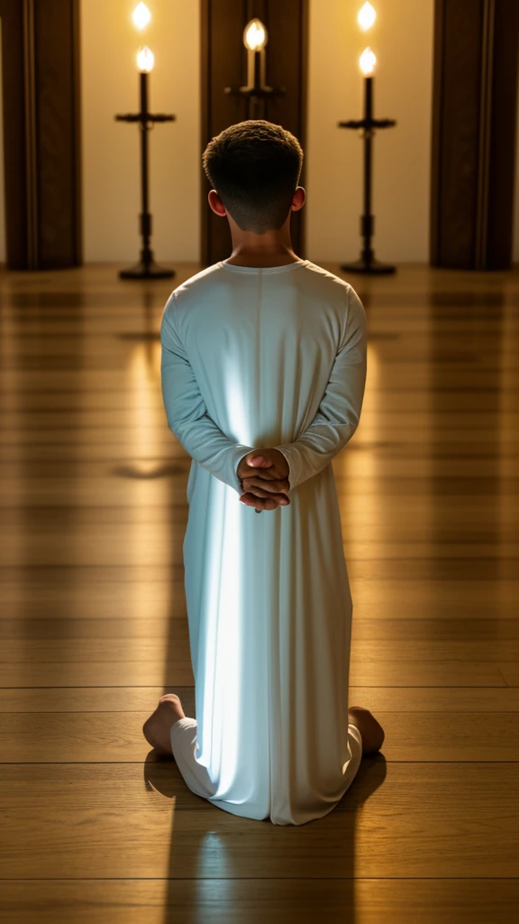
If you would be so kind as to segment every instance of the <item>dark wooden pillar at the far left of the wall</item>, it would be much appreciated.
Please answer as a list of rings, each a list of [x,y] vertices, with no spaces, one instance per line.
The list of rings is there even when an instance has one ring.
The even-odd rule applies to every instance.
[[[78,0],[0,0],[6,265],[81,261]]]

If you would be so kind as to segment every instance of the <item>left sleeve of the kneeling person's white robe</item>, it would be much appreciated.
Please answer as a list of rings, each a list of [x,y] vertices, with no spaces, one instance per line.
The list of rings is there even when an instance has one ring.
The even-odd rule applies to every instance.
[[[168,309],[166,304],[161,323],[161,377],[168,426],[189,456],[241,494],[236,468],[254,446],[234,443],[209,416],[186,350],[175,331],[175,298],[171,305],[172,309]]]

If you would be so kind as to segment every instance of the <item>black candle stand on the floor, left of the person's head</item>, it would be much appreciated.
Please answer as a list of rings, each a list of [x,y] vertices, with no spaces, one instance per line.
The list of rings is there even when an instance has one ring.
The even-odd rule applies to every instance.
[[[128,270],[121,270],[121,279],[168,279],[175,270],[157,266],[150,249],[151,213],[148,211],[148,132],[154,122],[173,122],[176,116],[153,115],[148,112],[148,74],[140,73],[140,112],[115,116],[117,122],[139,122],[140,125],[140,186],[142,212],[139,214],[139,234],[142,237],[140,260]]]

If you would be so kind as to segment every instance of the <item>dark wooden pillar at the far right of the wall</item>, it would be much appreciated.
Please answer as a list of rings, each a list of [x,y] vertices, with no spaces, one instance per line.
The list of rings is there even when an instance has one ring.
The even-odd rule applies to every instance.
[[[436,0],[433,266],[512,265],[518,41],[517,0]]]

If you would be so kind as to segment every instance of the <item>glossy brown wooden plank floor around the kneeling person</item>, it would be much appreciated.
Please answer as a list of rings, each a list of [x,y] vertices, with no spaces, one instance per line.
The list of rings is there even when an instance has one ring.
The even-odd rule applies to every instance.
[[[519,906],[519,274],[351,279],[360,426],[334,461],[350,704],[383,753],[301,827],[193,795],[141,734],[193,709],[175,280],[0,275],[3,924],[511,924]],[[336,264],[327,264],[340,274]]]

